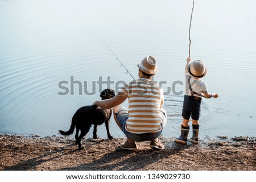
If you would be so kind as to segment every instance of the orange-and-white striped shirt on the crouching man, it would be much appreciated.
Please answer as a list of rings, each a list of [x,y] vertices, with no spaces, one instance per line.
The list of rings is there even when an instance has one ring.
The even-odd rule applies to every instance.
[[[129,100],[129,118],[126,130],[131,133],[155,133],[162,130],[159,109],[163,99],[163,89],[146,78],[131,81],[121,92]]]

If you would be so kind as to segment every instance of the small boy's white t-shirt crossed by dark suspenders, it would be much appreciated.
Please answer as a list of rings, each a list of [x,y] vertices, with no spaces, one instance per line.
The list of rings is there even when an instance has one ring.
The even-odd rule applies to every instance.
[[[188,96],[192,96],[190,90],[189,90],[189,85],[188,85],[188,78],[189,78],[189,74],[185,75],[185,94]],[[208,86],[207,83],[204,82],[203,80],[197,80],[196,78],[191,77],[190,78],[190,84],[191,84],[191,88],[193,92],[199,93],[199,94],[203,94],[203,93],[208,93]],[[194,95],[195,97],[200,97],[197,95]]]

